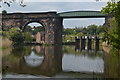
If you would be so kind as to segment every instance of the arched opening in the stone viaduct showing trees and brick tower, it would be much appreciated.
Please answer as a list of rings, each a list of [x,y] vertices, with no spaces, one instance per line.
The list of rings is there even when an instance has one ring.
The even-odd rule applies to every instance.
[[[45,42],[45,27],[40,22],[28,22],[24,26],[24,32],[26,42]]]

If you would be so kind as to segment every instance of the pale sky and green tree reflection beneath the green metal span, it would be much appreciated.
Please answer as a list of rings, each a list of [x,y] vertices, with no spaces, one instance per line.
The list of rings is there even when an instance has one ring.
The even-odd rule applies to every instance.
[[[74,46],[65,46],[62,63],[64,71],[76,71],[76,72],[104,72],[104,61],[102,58],[102,52],[94,53],[86,50],[78,51],[74,50]]]

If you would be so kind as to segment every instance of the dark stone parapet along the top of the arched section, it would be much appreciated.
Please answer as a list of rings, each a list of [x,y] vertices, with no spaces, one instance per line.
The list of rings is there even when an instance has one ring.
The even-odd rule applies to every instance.
[[[30,19],[30,18],[48,18],[57,17],[56,12],[41,12],[41,13],[7,13],[2,14],[2,19]]]

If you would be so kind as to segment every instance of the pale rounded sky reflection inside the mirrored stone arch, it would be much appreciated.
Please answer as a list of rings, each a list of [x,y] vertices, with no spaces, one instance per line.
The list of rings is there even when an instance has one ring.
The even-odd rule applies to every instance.
[[[25,63],[30,67],[40,66],[43,59],[43,56],[37,56],[34,51],[29,56],[24,56]]]

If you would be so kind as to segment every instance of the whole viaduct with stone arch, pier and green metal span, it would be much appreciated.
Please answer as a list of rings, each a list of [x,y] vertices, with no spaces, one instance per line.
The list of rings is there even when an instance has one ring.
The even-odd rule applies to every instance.
[[[69,18],[105,18],[100,11],[40,12],[40,13],[7,13],[2,14],[2,29],[19,27],[25,30],[27,24],[37,22],[45,27],[46,44],[62,44],[63,19]],[[9,26],[9,27],[8,27]]]

